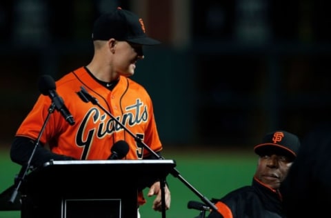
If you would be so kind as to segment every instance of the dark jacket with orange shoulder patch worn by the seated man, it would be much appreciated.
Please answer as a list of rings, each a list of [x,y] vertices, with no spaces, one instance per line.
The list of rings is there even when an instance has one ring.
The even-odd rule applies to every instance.
[[[219,202],[221,201],[221,202]],[[281,209],[281,195],[253,178],[252,186],[243,186],[233,190],[221,199],[212,199],[222,211],[224,218],[280,218],[285,217]],[[222,204],[223,203],[223,204]],[[230,216],[223,211],[230,212]],[[219,212],[212,211],[208,218],[223,218]]]

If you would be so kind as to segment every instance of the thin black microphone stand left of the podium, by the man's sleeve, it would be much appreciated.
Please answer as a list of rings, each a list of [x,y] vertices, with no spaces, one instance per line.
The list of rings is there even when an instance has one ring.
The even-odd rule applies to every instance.
[[[26,178],[26,175],[28,175],[28,171],[32,167],[31,166],[32,157],[34,156],[34,152],[36,152],[36,150],[37,150],[37,147],[39,145],[39,141],[40,141],[41,135],[43,134],[43,131],[46,128],[46,124],[48,123],[48,119],[50,119],[50,115],[54,112],[54,109],[55,109],[55,103],[53,102],[50,105],[50,108],[48,108],[48,115],[46,117],[46,120],[43,122],[43,126],[41,127],[41,131],[39,132],[38,138],[37,138],[37,140],[34,143],[34,148],[32,150],[32,153],[30,155],[30,158],[28,160],[28,164],[26,166],[22,166],[21,170],[19,171],[19,175],[17,175],[17,178],[15,179],[16,180],[15,183],[17,185],[14,188],[14,190],[12,192],[12,195],[11,195],[11,197],[9,199],[9,202],[11,204],[14,203],[14,201],[15,201],[15,199],[17,197],[17,194],[19,192],[19,188],[21,187],[21,184],[22,184],[23,180]]]

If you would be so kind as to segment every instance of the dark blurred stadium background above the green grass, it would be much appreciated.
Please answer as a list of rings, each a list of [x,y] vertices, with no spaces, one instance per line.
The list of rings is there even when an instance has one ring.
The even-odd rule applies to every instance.
[[[177,0],[139,2],[0,2],[5,145],[39,95],[38,77],[88,64],[92,22],[116,6],[147,11],[148,35],[163,42],[145,48],[132,77],[150,92],[163,143],[245,147],[330,121],[330,1],[180,1],[183,13]],[[184,20],[186,40],[176,41]]]

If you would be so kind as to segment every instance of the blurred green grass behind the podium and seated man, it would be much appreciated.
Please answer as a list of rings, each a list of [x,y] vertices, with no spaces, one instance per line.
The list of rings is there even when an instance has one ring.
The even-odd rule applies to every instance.
[[[252,150],[221,150],[212,148],[192,149],[190,147],[171,148],[163,152],[165,159],[176,161],[176,169],[188,186],[192,186],[203,197],[221,197],[225,193],[249,185],[252,181],[257,156]],[[0,150],[0,192],[12,186],[20,166],[12,163],[8,150]],[[186,184],[173,175],[168,175],[167,182],[171,192],[171,207],[166,211],[168,218],[193,218],[199,210],[188,209],[188,201],[201,201]],[[144,191],[147,193],[147,189]],[[141,218],[162,217],[161,212],[152,210],[154,197],[140,208]],[[202,202],[202,201],[201,201]],[[0,211],[0,218],[19,218],[19,211]]]

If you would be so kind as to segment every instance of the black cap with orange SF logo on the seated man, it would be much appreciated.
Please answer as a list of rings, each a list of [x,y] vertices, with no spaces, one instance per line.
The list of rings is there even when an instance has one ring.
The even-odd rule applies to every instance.
[[[270,150],[278,150],[288,157],[295,159],[300,148],[300,140],[297,135],[283,130],[269,132],[263,137],[262,143],[254,147],[257,155],[265,155]]]

